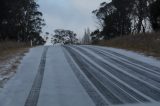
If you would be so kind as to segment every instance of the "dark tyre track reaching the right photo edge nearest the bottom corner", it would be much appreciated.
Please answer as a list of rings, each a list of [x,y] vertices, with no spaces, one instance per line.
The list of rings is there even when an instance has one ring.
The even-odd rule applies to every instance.
[[[158,89],[153,88],[151,85],[148,85],[144,82],[141,82],[140,80],[129,76],[128,74],[120,71],[119,69],[116,69],[115,67],[110,66],[109,64],[106,64],[96,58],[95,56],[89,54],[87,51],[83,50],[80,47],[77,47],[78,50],[85,53],[88,57],[90,57],[93,61],[96,61],[97,64],[99,64],[101,67],[104,67],[104,69],[108,69],[110,73],[121,79],[122,81],[126,82],[133,88],[137,89],[138,91],[142,92],[143,94],[147,95],[148,97],[151,97],[152,99],[156,101],[160,101],[160,91]]]

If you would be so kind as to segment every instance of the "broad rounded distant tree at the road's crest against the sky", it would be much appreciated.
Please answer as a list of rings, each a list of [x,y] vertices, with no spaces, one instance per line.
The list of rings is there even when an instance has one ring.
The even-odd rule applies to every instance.
[[[76,44],[78,42],[77,35],[73,31],[56,29],[54,32],[54,43]]]

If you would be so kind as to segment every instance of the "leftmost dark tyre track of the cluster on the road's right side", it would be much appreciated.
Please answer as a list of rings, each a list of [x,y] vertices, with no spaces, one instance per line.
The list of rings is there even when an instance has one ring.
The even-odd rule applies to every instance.
[[[64,55],[65,55],[68,63],[70,64],[71,68],[73,69],[73,72],[75,73],[79,82],[85,88],[86,92],[88,93],[90,98],[93,100],[95,105],[96,106],[108,106],[110,103],[108,101],[105,101],[103,96],[101,96],[100,93],[98,93],[98,90],[96,90],[96,88],[93,87],[91,82],[89,82],[89,80],[87,80],[85,75],[83,75],[83,73],[80,72],[81,69],[79,68],[79,66],[77,66],[75,61],[70,56],[70,54],[68,52],[69,50],[67,49],[67,47],[64,47],[63,51],[64,51]]]

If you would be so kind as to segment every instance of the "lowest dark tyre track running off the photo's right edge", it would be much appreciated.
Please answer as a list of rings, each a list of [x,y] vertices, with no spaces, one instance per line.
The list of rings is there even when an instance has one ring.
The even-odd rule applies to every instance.
[[[90,52],[88,49],[82,47],[77,47],[77,48],[81,52],[85,53],[88,57],[93,59],[93,61],[97,61],[97,64],[99,64],[101,67],[104,67],[104,69],[108,68],[107,71],[110,71],[110,73],[112,73],[122,81],[126,82],[133,88],[142,92],[144,95],[152,98],[152,100],[159,101],[160,98],[159,88],[152,86],[150,83],[143,81],[138,77],[129,74],[128,72],[125,72],[123,69],[120,69],[116,65],[111,64],[110,62],[104,60],[100,56],[95,55],[95,53]]]

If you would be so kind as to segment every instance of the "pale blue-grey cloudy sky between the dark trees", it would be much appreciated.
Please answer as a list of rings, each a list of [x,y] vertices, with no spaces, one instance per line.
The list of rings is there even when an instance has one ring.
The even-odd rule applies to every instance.
[[[55,29],[67,29],[82,38],[85,28],[97,28],[92,11],[104,1],[107,0],[38,0],[46,23],[43,32],[54,34]]]

